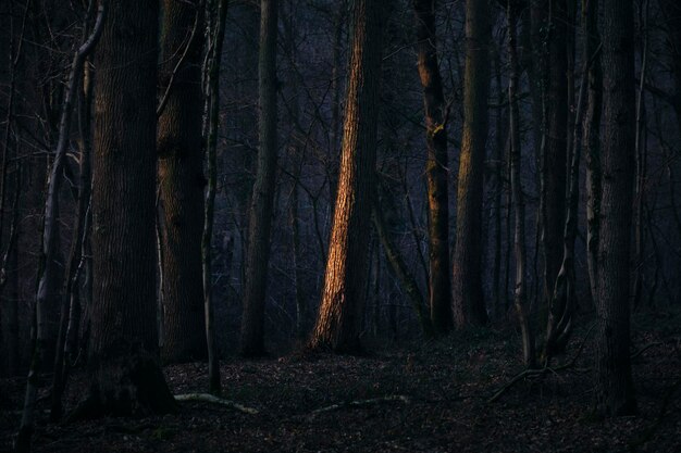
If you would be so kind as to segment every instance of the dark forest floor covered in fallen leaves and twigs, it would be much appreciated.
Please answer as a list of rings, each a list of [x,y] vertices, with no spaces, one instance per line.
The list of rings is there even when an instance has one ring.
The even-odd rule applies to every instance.
[[[556,361],[577,356],[573,366],[520,380],[493,403],[522,370],[512,330],[374,344],[363,356],[231,357],[224,398],[257,414],[182,402],[173,415],[57,425],[41,411],[35,452],[681,452],[681,313],[634,317],[640,415],[614,419],[591,410],[592,322],[581,320]],[[203,364],[165,374],[176,394],[207,388]],[[0,451],[11,448],[23,392],[24,379],[0,380]],[[74,379],[70,403],[83,392]]]

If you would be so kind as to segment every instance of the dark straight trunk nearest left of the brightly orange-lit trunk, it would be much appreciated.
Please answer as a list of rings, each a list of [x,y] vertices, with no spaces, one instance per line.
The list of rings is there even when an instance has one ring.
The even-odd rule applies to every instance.
[[[249,211],[246,281],[242,315],[240,353],[263,355],[264,305],[270,263],[270,230],[276,171],[276,35],[277,0],[262,0],[260,8],[259,84],[260,119],[258,169]]]

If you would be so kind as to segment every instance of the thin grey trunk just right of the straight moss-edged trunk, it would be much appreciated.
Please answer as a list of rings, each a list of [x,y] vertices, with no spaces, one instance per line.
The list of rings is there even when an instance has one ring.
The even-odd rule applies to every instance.
[[[534,366],[534,335],[529,319],[527,307],[527,250],[525,250],[525,207],[522,193],[521,181],[521,158],[522,149],[520,144],[520,109],[518,108],[518,50],[516,26],[518,22],[516,7],[512,0],[507,3],[508,21],[508,59],[510,64],[510,78],[508,85],[509,130],[510,130],[510,183],[512,203],[515,212],[513,227],[513,254],[516,259],[516,286],[513,292],[513,304],[518,315],[518,323],[522,335],[522,355],[525,366]]]

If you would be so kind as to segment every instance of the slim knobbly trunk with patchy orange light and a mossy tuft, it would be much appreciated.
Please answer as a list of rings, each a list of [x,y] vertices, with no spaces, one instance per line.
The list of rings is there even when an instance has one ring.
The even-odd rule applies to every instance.
[[[417,52],[428,160],[429,286],[431,322],[436,335],[453,326],[451,281],[449,277],[449,197],[447,188],[447,106],[437,63],[435,1],[413,0],[417,16]]]

